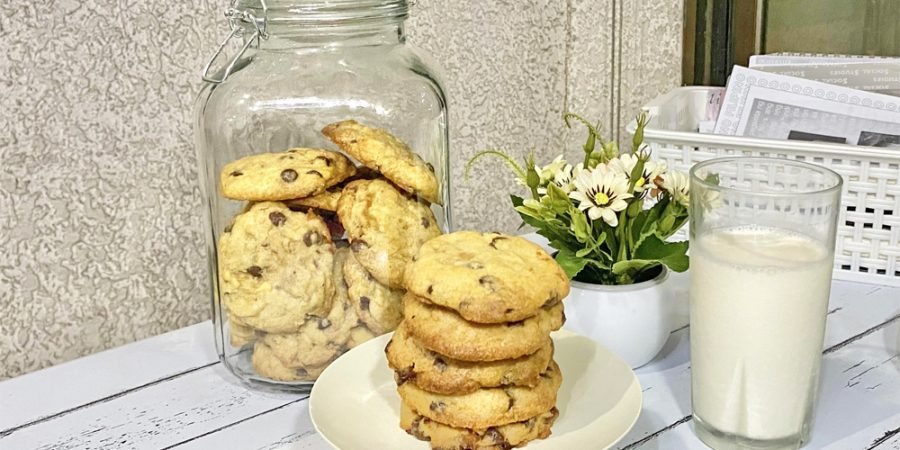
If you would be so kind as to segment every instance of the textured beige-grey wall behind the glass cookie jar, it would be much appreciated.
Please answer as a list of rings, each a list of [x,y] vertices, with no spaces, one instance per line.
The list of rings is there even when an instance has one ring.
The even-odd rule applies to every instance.
[[[191,110],[226,4],[7,3],[0,379],[209,317]],[[612,135],[680,81],[680,2],[420,0],[408,24],[445,69],[461,228],[518,225],[498,163],[462,180],[476,151],[577,154],[564,111]]]

